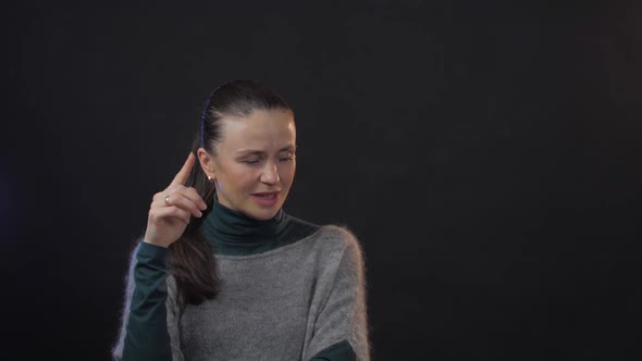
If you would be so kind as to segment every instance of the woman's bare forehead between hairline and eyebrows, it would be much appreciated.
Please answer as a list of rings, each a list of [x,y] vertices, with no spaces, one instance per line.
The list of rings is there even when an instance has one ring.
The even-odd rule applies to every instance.
[[[222,141],[219,146],[226,151],[270,151],[296,144],[294,117],[287,110],[256,110],[249,116],[225,117],[222,121]]]

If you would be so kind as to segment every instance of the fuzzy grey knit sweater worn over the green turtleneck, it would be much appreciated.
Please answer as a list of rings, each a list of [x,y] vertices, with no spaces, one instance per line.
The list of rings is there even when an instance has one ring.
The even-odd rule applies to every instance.
[[[141,242],[132,257],[115,360],[123,353],[136,264],[152,260],[162,274],[159,259],[165,251]],[[346,228],[323,226],[266,252],[214,257],[221,279],[214,300],[181,312],[173,277],[165,274],[166,287],[157,287],[166,292],[173,360],[310,360],[342,344],[358,360],[370,359],[365,263],[359,241]]]

